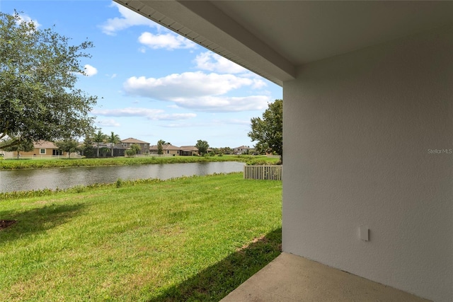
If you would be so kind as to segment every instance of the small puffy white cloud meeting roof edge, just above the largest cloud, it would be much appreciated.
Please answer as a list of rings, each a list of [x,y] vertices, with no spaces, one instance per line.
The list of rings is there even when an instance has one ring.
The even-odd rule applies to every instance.
[[[197,69],[219,72],[221,74],[241,74],[249,72],[243,66],[231,62],[214,52],[202,52],[195,57]]]

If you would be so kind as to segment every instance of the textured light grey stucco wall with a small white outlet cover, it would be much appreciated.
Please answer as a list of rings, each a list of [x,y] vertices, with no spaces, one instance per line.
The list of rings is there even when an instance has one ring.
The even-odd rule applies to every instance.
[[[283,250],[452,301],[453,28],[301,66],[284,118]]]

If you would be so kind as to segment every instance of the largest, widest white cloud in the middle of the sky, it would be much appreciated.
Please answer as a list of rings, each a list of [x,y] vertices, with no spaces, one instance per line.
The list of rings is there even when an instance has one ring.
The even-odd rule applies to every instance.
[[[256,86],[253,79],[233,74],[205,74],[202,71],[171,74],[163,78],[133,76],[123,84],[126,93],[154,100],[171,101],[181,108],[207,112],[263,110],[270,98],[266,95],[230,97],[224,94],[243,86]]]

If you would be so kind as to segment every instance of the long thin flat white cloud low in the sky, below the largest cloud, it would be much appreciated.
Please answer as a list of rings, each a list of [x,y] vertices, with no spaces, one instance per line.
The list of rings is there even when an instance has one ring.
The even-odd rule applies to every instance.
[[[108,117],[146,117],[148,120],[187,120],[196,117],[195,113],[164,113],[164,110],[149,108],[95,109],[94,115]]]

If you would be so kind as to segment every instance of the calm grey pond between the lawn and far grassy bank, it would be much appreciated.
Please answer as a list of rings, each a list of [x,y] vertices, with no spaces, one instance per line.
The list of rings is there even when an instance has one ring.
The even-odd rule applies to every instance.
[[[0,192],[40,189],[67,189],[76,185],[115,182],[140,178],[166,180],[181,176],[208,175],[243,171],[244,163],[224,161],[212,163],[167,163],[159,165],[120,165],[108,167],[45,168],[0,170]]]

